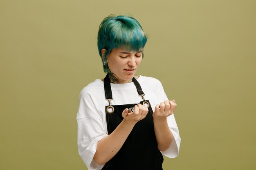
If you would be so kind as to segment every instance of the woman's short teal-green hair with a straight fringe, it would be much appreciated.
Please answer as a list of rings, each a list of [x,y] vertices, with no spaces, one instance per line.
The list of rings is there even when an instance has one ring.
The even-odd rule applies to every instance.
[[[98,32],[98,49],[103,62],[104,72],[109,72],[106,61],[112,49],[122,47],[127,51],[137,52],[144,48],[147,40],[146,33],[144,33],[139,22],[132,16],[109,15],[104,18]],[[102,56],[102,49],[106,49],[105,56]],[[143,53],[142,57],[144,57]]]

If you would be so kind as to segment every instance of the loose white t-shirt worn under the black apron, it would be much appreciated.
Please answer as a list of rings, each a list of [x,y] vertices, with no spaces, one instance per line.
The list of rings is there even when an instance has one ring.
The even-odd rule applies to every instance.
[[[155,106],[168,100],[161,82],[152,77],[139,76],[137,79],[145,93],[144,98],[149,100],[153,111]],[[143,99],[138,95],[133,82],[125,84],[112,84],[111,105],[134,104]],[[88,170],[101,170],[103,166],[94,162],[97,143],[108,135],[105,106],[109,106],[105,99],[104,83],[100,79],[88,84],[80,92],[79,109],[77,112],[78,124],[78,151]],[[180,134],[174,114],[167,117],[168,126],[173,133],[170,148],[162,152],[166,157],[177,157],[180,149]]]

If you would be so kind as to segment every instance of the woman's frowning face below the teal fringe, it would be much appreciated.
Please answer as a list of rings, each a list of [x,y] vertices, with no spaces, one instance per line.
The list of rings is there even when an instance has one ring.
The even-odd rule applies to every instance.
[[[127,83],[134,77],[142,60],[142,52],[126,51],[126,49],[112,49],[108,55],[108,67],[118,79],[119,83]]]

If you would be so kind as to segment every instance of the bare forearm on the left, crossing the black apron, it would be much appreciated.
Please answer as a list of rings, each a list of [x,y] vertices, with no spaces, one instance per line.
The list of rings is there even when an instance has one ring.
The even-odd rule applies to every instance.
[[[124,119],[110,135],[101,139],[97,144],[94,161],[103,165],[114,157],[123,146],[134,125],[128,124]]]

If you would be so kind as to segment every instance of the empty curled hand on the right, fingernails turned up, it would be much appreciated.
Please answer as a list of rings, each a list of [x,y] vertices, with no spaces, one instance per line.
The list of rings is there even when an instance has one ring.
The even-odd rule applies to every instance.
[[[166,117],[170,116],[173,114],[177,104],[175,100],[166,100],[164,102],[161,102],[160,105],[157,104],[155,106],[155,112],[153,113],[153,118],[155,120],[166,120]]]

